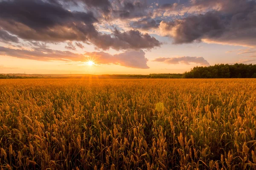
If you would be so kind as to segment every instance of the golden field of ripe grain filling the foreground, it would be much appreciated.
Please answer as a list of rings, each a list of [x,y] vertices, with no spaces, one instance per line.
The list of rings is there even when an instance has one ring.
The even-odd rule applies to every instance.
[[[0,80],[8,170],[255,170],[256,79]]]

